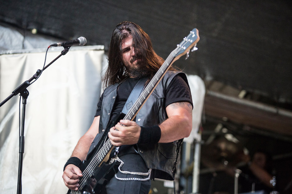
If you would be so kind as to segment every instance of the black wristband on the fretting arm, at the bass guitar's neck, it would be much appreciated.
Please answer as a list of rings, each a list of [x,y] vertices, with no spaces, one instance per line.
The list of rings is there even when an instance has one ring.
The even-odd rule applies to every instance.
[[[156,144],[160,140],[161,129],[158,125],[141,127],[138,144]]]

